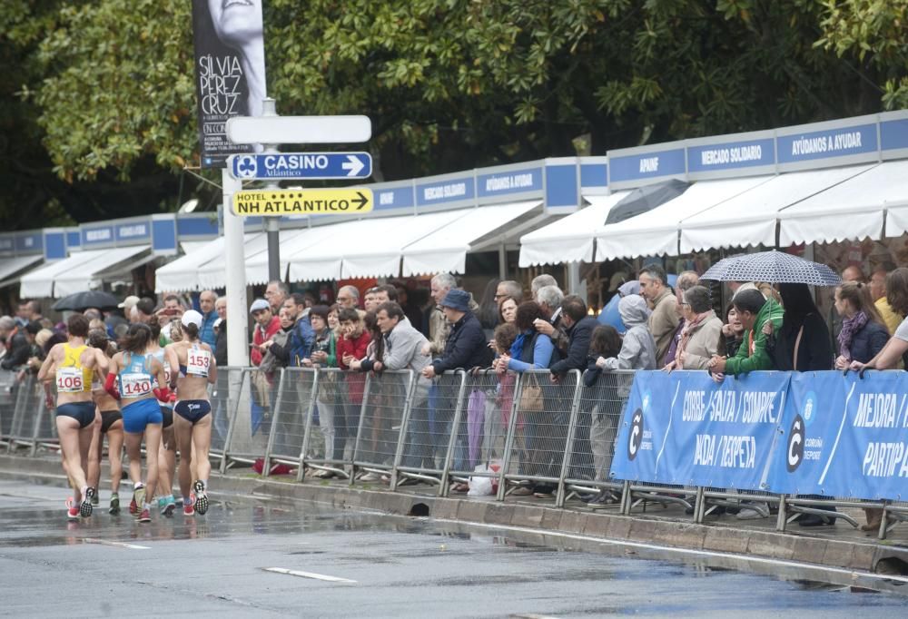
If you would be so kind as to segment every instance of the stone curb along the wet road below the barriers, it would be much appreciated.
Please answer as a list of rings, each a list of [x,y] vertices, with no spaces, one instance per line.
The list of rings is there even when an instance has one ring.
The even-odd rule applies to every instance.
[[[27,469],[24,469],[24,465]],[[0,477],[35,484],[64,486],[57,460],[0,455]],[[646,515],[619,516],[574,509],[498,503],[493,500],[440,498],[348,486],[293,483],[261,477],[212,475],[212,495],[268,496],[305,501],[339,509],[367,509],[406,515],[416,504],[429,507],[429,516],[482,525],[521,526],[553,532],[590,535],[611,540],[668,545],[744,556],[783,559],[876,572],[880,561],[908,564],[908,547],[832,540],[813,535],[761,531],[724,524],[697,525],[689,521]]]

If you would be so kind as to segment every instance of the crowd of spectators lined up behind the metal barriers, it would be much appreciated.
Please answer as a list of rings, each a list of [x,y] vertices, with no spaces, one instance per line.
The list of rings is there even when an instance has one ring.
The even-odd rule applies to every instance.
[[[419,304],[406,287],[391,284],[365,290],[361,299],[359,289],[343,286],[328,304],[271,281],[263,298],[253,300],[249,308],[250,361],[264,377],[252,398],[266,402],[281,368],[340,368],[360,375],[411,369],[419,376],[414,401],[422,408],[435,401],[435,379],[458,368],[491,368],[498,377],[499,403],[514,398],[514,379],[528,370],[547,372],[550,385],[577,370],[587,387],[595,388],[615,370],[706,371],[722,381],[767,369],[903,368],[908,353],[908,269],[874,270],[866,277],[849,267],[842,275],[842,284],[833,291],[834,315],[824,316],[814,292],[804,284],[728,282],[732,300],[716,311],[714,291],[699,281],[696,272],[679,273],[670,286],[665,270],[646,266],[637,280],[618,288],[623,329],[597,321],[581,297],[566,295],[550,275],[532,280],[529,290],[517,281],[491,282],[481,303],[459,288],[449,273],[431,279],[425,304]],[[202,315],[199,339],[211,346],[217,365],[225,366],[226,300],[205,290],[196,302]],[[164,346],[179,339],[179,319],[188,309],[188,301],[175,294],[163,295],[160,301],[130,296],[119,308],[86,309],[84,315],[91,329],[105,329],[111,339],[122,337],[130,323],[156,322]],[[65,341],[64,324],[54,324],[40,312],[35,301],[26,301],[15,316],[0,317],[0,366],[20,377],[34,373],[47,351]],[[361,382],[347,384],[351,390],[360,389],[361,401]],[[526,393],[524,398],[521,408],[536,406]],[[319,401],[326,457],[338,459],[346,439],[341,428],[349,427],[352,413],[349,407]],[[541,397],[538,402],[539,407],[555,408],[556,423],[568,423],[567,410],[560,405]],[[592,461],[601,463],[615,428],[603,425],[596,410],[586,412],[592,420],[584,439]],[[521,448],[528,454],[528,467],[541,470],[550,465],[534,460],[534,441],[541,430],[529,417],[524,427],[526,444]],[[408,457],[423,461],[432,455],[414,447]],[[596,478],[603,474],[607,471],[597,470]],[[545,497],[551,490],[537,485],[521,486],[517,492]],[[608,492],[586,498],[594,503],[614,500]],[[737,517],[760,517],[760,511],[742,508]],[[865,528],[878,527],[880,517],[867,510]],[[814,515],[800,520],[803,526],[832,522]]]

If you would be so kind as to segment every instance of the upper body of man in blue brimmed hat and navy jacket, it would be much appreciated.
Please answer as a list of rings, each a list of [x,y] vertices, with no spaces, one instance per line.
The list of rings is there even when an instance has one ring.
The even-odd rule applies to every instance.
[[[451,289],[440,303],[451,325],[440,359],[422,369],[426,378],[435,378],[447,369],[488,368],[491,349],[479,319],[469,309],[469,292]]]

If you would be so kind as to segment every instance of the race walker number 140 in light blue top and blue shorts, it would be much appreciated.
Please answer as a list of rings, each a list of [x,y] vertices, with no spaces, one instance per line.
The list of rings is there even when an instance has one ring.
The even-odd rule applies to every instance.
[[[129,508],[130,512],[138,515],[139,522],[152,520],[152,497],[154,486],[158,483],[158,448],[161,447],[163,415],[157,400],[166,402],[170,399],[163,364],[146,352],[150,339],[152,329],[148,325],[142,322],[131,325],[121,342],[123,351],[111,359],[111,371],[104,383],[107,393],[122,399],[129,477],[133,480],[133,501]],[[154,387],[155,379],[164,387]],[[142,482],[143,436],[147,461],[145,484]]]

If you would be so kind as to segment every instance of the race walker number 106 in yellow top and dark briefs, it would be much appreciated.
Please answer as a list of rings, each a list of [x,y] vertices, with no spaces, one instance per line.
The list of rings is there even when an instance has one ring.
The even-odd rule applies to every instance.
[[[56,428],[63,452],[64,471],[73,486],[74,497],[67,502],[66,516],[78,520],[92,515],[95,490],[88,486],[88,448],[94,434],[92,377],[97,369],[107,372],[107,358],[98,349],[85,345],[88,320],[76,314],[66,321],[66,343],[56,344],[47,354],[38,380],[55,378],[57,388]]]

